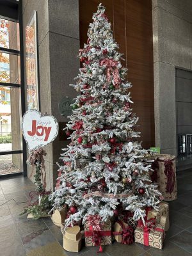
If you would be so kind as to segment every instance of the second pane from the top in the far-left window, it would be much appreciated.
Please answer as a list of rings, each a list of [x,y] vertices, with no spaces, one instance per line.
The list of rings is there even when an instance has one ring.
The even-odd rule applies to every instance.
[[[20,84],[20,56],[0,52],[0,82]]]

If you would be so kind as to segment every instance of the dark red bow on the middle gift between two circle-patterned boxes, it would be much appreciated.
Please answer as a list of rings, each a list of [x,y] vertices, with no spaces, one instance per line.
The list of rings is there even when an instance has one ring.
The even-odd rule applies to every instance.
[[[116,221],[121,227],[122,231],[120,232],[113,232],[114,236],[122,236],[122,244],[132,244],[133,243],[133,237],[134,237],[134,230],[131,226],[124,226],[124,223],[122,221]]]

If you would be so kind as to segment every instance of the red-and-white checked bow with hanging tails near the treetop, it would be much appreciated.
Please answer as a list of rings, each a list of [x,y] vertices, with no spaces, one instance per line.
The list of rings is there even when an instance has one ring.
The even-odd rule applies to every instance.
[[[106,66],[107,68],[107,81],[111,81],[111,74],[113,75],[113,80],[115,82],[115,85],[118,86],[120,84],[121,79],[118,73],[117,68],[118,61],[115,61],[113,59],[106,58],[102,61],[100,61],[101,66]]]

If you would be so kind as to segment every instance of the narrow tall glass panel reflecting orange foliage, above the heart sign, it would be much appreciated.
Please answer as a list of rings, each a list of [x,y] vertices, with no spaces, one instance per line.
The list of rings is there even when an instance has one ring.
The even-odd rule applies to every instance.
[[[38,109],[36,12],[26,26],[26,75],[28,109]]]

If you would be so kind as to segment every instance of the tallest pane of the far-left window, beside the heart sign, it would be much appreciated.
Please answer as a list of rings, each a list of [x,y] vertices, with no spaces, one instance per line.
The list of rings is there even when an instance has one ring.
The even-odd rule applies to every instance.
[[[20,88],[0,87],[0,154],[20,150]]]

